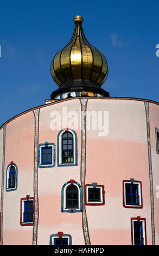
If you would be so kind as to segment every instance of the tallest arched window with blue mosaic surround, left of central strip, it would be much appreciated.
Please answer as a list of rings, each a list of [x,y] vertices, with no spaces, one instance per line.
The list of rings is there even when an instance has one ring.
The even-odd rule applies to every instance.
[[[58,166],[77,166],[77,134],[72,129],[58,134]]]

